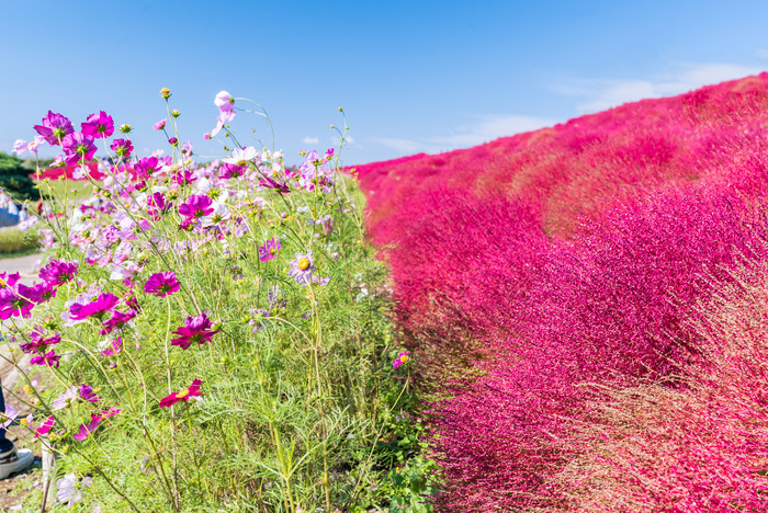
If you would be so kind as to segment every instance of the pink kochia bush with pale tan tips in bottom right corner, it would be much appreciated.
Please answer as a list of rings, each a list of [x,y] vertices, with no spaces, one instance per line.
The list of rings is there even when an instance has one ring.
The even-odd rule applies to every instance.
[[[642,384],[574,424],[551,486],[581,512],[768,511],[768,265],[697,306],[703,340],[680,386]]]

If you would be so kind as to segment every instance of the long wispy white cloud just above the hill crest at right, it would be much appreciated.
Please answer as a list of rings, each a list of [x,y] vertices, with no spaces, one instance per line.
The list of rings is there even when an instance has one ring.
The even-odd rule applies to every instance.
[[[580,113],[605,111],[622,103],[645,98],[671,96],[712,83],[759,73],[761,69],[727,62],[684,62],[653,79],[571,80],[554,90],[561,94],[581,96],[576,105]]]

